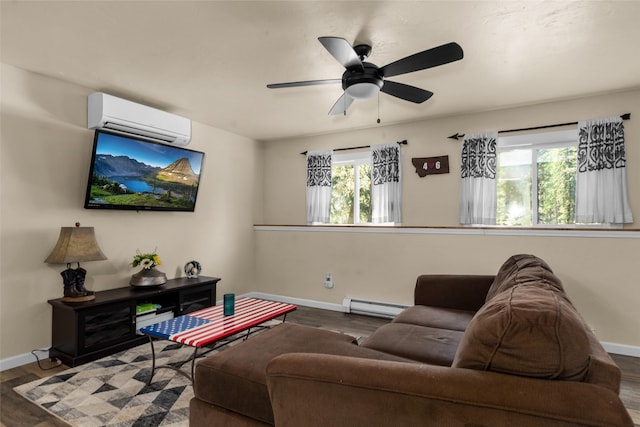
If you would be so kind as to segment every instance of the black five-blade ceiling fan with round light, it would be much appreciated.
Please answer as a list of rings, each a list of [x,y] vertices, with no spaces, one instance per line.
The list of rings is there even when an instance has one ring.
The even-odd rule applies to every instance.
[[[386,80],[386,78],[437,67],[458,61],[463,57],[462,48],[457,43],[452,42],[407,56],[384,67],[378,67],[370,62],[364,62],[371,55],[371,46],[369,45],[359,44],[351,47],[348,41],[340,37],[319,37],[318,41],[346,69],[341,79],[272,83],[268,84],[267,87],[269,89],[279,89],[342,83],[344,93],[329,111],[330,115],[346,114],[347,108],[355,99],[371,98],[378,92],[384,92],[387,95],[416,104],[423,103],[431,98],[433,92]]]

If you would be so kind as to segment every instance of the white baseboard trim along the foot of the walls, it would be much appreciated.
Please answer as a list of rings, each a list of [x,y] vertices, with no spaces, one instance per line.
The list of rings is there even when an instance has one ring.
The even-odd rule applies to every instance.
[[[287,297],[283,295],[276,294],[267,294],[264,292],[249,292],[244,295],[250,298],[263,298],[271,301],[278,302],[286,302],[288,304],[301,305],[303,307],[312,307],[312,308],[320,308],[323,310],[331,310],[331,311],[339,311],[342,313],[347,312],[347,308],[342,304],[329,303],[324,301],[315,301],[304,298],[293,298]],[[218,301],[217,304],[222,304],[222,300]],[[607,353],[620,354],[622,356],[631,356],[631,357],[640,357],[640,346],[635,345],[627,345],[627,344],[618,344],[612,342],[600,342]],[[45,356],[47,357],[47,356]],[[17,356],[7,357],[5,359],[0,359],[0,372],[5,371],[7,369],[17,368],[18,366],[27,365],[29,363],[35,362],[35,357],[31,353],[19,354]]]

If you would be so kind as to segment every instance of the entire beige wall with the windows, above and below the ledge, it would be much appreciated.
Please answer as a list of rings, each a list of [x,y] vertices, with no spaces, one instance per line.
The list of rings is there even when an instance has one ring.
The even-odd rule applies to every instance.
[[[425,107],[420,107],[425,108]],[[428,107],[426,107],[428,108]],[[460,143],[456,132],[514,129],[631,113],[625,122],[630,202],[640,228],[640,91],[547,103],[405,125],[376,126],[265,144],[265,224],[305,223],[305,150],[407,139],[403,147],[403,225],[458,226]],[[384,115],[382,117],[384,120]],[[372,118],[372,121],[375,118]],[[449,155],[451,173],[419,178],[412,157]],[[295,179],[299,177],[300,179]],[[405,230],[406,231],[406,230]],[[444,234],[440,234],[440,232]],[[514,253],[546,259],[602,341],[640,351],[640,232],[624,238],[459,234],[257,231],[257,277],[265,293],[340,304],[346,296],[410,304],[420,273],[493,274]],[[603,234],[608,236],[608,234]],[[335,287],[322,282],[331,272]],[[640,353],[638,353],[640,354]]]

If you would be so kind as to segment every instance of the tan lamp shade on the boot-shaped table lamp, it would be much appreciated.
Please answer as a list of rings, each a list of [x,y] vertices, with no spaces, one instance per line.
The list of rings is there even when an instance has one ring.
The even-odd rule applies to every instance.
[[[101,261],[107,257],[96,242],[93,227],[62,227],[55,248],[44,262],[48,264],[69,264],[72,262]]]

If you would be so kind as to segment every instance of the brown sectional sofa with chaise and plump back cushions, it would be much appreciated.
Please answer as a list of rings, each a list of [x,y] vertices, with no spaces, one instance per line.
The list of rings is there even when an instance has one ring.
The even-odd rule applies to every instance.
[[[282,324],[196,367],[190,425],[633,426],[620,370],[533,255],[422,275],[360,346]]]

